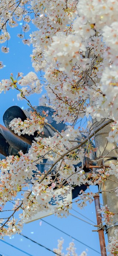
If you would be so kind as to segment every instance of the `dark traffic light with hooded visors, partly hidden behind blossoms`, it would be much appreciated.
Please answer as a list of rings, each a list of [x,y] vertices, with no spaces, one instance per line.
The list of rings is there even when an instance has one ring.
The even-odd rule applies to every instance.
[[[35,106],[34,109],[39,113],[39,115],[42,116],[42,111],[48,112],[48,117],[46,119],[48,120],[48,123],[52,125],[55,129],[57,129],[59,132],[62,130],[66,130],[66,124],[63,124],[63,122],[56,124],[56,121],[52,118],[53,115],[53,109],[50,107],[45,106]],[[32,111],[32,108],[28,108],[26,110],[22,110],[18,106],[12,106],[6,110],[6,112],[3,115],[3,121],[6,127],[3,127],[0,125],[0,154],[1,159],[3,159],[6,156],[9,155],[18,155],[18,151],[22,151],[23,153],[28,153],[28,150],[32,144],[32,141],[34,141],[35,137],[38,135],[37,131],[34,132],[34,135],[28,135],[28,134],[21,134],[18,136],[18,134],[15,134],[14,131],[9,127],[10,122],[14,118],[21,118],[22,121],[26,120],[27,118],[30,118],[30,113]],[[44,134],[39,134],[41,137],[48,138],[49,136],[53,136],[55,133],[54,129],[49,127],[49,125],[44,125]],[[82,135],[83,138],[86,138],[85,135]],[[80,140],[79,137],[76,139]],[[94,145],[93,145],[94,146]],[[85,159],[84,159],[85,160]],[[85,161],[84,161],[85,162]],[[44,159],[42,164],[37,165],[38,170],[43,173],[44,171],[48,170],[49,167],[51,167],[53,162],[49,161],[48,159]],[[47,167],[48,166],[48,167]],[[78,163],[77,165],[74,165],[74,167],[81,167],[81,163]],[[91,172],[91,170],[86,167],[84,164],[84,172]],[[54,171],[54,170],[53,170]],[[34,175],[35,176],[35,172]],[[72,198],[75,198],[79,195],[80,190],[85,191],[87,188],[86,185],[82,184],[81,186],[75,186],[72,190]]]

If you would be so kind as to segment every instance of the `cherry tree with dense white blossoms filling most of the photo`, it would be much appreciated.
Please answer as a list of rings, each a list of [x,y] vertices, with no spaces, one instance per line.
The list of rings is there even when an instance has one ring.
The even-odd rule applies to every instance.
[[[32,108],[30,119],[11,121],[10,127],[15,134],[34,135],[37,131],[38,135],[28,153],[20,151],[19,155],[0,161],[1,212],[5,211],[9,200],[15,202],[8,218],[3,216],[1,220],[0,234],[4,237],[21,232],[24,220],[38,211],[51,209],[49,201],[55,198],[55,188],[69,193],[73,186],[100,185],[115,175],[116,187],[112,192],[118,196],[118,163],[98,168],[96,172],[84,171],[85,157],[91,159],[91,164],[103,159],[103,153],[96,157],[97,149],[91,140],[107,125],[111,127],[107,140],[115,143],[112,150],[117,151],[118,0],[2,0],[0,12],[0,42],[5,43],[1,51],[9,51],[8,26],[15,27],[23,20],[18,37],[24,44],[33,45],[34,71],[44,72],[41,78],[35,72],[26,76],[18,73],[17,78],[11,74],[0,83],[0,93],[15,89],[18,99],[27,100]],[[27,38],[31,22],[36,31]],[[3,68],[2,61],[0,68]],[[54,110],[52,118],[57,124],[67,124],[65,131],[59,132],[52,127],[48,123],[48,111],[39,114],[28,100],[30,94],[41,93],[42,86],[45,86],[46,94],[40,104]],[[86,129],[81,125],[82,120],[86,120]],[[100,121],[101,125],[97,126]],[[52,129],[53,136],[43,136],[45,125]],[[48,159],[49,167],[41,173],[37,165],[44,159]],[[77,166],[79,163],[81,168]],[[28,180],[32,190],[28,188]],[[65,184],[69,184],[69,190]],[[21,193],[20,199],[18,193]],[[87,201],[93,201],[93,197],[91,191],[81,191],[76,203],[83,208]],[[71,204],[56,205],[54,213],[65,217]],[[18,210],[17,221],[15,214]],[[108,224],[112,224],[111,219],[118,214],[109,211],[108,205],[100,211],[104,212]],[[109,243],[109,251],[115,256],[118,255],[117,236],[118,229]]]

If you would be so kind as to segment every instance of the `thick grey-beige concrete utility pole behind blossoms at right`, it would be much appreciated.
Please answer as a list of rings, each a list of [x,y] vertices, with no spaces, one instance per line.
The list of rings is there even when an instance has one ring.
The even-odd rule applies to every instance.
[[[98,128],[99,125],[103,122],[104,120],[101,120],[100,122],[96,122],[96,124],[94,125],[94,128],[96,127]],[[110,163],[116,164],[118,162],[117,161],[118,150],[116,149],[112,150],[114,147],[117,146],[117,144],[108,142],[106,138],[110,130],[111,130],[110,125],[107,125],[94,136],[95,145],[97,148],[97,152],[96,152],[97,158],[100,156],[103,157],[103,159],[98,160],[98,165],[102,165],[102,160],[103,160],[104,166],[109,166]],[[110,225],[107,226],[107,232],[108,232],[108,238],[109,238],[110,236],[114,236],[114,230],[118,227],[118,197],[116,197],[115,192],[106,191],[106,190],[111,190],[113,188],[118,187],[118,179],[114,175],[111,175],[108,178],[111,180],[107,180],[101,185],[101,191],[105,191],[102,193],[103,204],[104,205],[107,204],[111,212],[117,213],[113,217],[113,223],[115,222],[114,226],[110,226]]]

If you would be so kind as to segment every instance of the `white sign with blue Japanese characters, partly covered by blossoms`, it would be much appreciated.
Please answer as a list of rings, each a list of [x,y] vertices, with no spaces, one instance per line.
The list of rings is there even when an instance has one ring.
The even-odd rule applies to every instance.
[[[69,187],[66,186],[66,190],[67,190],[67,188],[69,188]],[[54,190],[55,199],[52,197],[51,201],[49,202],[49,204],[52,205],[52,211],[48,210],[46,212],[45,211],[37,212],[37,214],[32,216],[32,218],[25,220],[24,223],[27,224],[32,221],[37,221],[37,219],[41,219],[46,216],[52,215],[53,208],[56,207],[57,203],[59,203],[60,205],[63,205],[63,204],[67,204],[68,202],[72,202],[72,191],[70,191],[70,194],[67,194],[67,195],[63,194],[63,197],[61,194],[62,194],[62,188],[58,188],[58,189]]]

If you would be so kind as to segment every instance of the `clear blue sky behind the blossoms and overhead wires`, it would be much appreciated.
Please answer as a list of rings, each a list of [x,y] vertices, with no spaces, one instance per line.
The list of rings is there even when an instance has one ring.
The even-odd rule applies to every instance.
[[[33,26],[32,26],[33,28]],[[32,46],[27,46],[22,44],[21,39],[17,37],[17,33],[20,32],[20,25],[16,28],[10,29],[8,28],[8,32],[11,34],[11,39],[8,41],[8,47],[10,48],[10,52],[5,54],[1,53],[1,59],[6,65],[3,69],[0,70],[0,81],[1,79],[9,79],[10,73],[13,73],[14,77],[17,75],[18,72],[24,73],[26,75],[30,71],[34,71],[32,68],[30,54],[32,53]],[[31,32],[31,31],[30,31]],[[5,45],[5,44],[4,44]],[[35,94],[29,97],[32,105],[38,105],[39,95]],[[15,90],[10,90],[6,94],[0,94],[0,123],[3,124],[3,114],[7,110],[8,107],[12,105],[18,105],[19,107],[27,108],[27,102],[22,100],[17,100],[17,92]],[[97,191],[97,186],[91,187],[92,191]],[[101,199],[102,203],[102,199]],[[11,203],[10,203],[11,204]],[[92,232],[93,229],[96,229],[92,226],[92,221],[96,223],[96,214],[95,214],[95,207],[94,202],[91,205],[85,207],[84,210],[80,210],[76,204],[73,204],[73,209],[83,214],[85,217],[89,218],[90,220],[86,219],[85,217],[81,216],[79,213],[71,210],[71,213],[78,218],[84,219],[84,221],[90,222],[90,224],[76,218],[73,216],[69,216],[67,218],[60,219],[55,217],[54,215],[48,216],[44,218],[44,221],[48,222],[49,224],[56,226],[58,229],[66,232],[69,236],[64,234],[63,232],[55,229],[51,225],[45,223],[41,220],[31,222],[29,224],[24,225],[24,229],[22,233],[33,239],[34,241],[46,246],[47,248],[53,249],[57,248],[57,240],[60,238],[65,239],[64,242],[64,249],[65,252],[66,247],[69,245],[69,242],[73,241],[74,238],[78,239],[78,241],[74,241],[75,247],[77,248],[78,255],[83,251],[88,249],[87,255],[88,256],[98,256],[99,253],[91,250],[87,247],[90,246],[91,248],[100,252],[99,246],[99,239],[98,233]],[[94,225],[94,224],[93,224]],[[105,235],[106,244],[107,244],[107,235]],[[11,245],[24,250],[25,252],[29,253],[32,256],[53,256],[55,255],[52,252],[49,252],[45,248],[37,245],[34,242],[31,242],[29,239],[26,239],[20,235],[14,235],[11,238],[6,237],[5,241],[10,243]],[[10,245],[0,241],[0,254],[4,256],[25,256],[24,252],[11,247]]]

